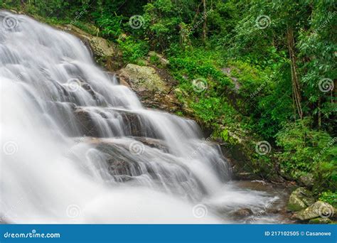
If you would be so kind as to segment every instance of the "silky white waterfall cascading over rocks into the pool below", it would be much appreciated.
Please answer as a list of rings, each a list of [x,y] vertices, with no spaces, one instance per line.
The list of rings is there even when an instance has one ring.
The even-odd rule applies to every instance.
[[[282,220],[279,193],[230,181],[195,121],[144,109],[68,33],[1,11],[0,81],[4,222]]]

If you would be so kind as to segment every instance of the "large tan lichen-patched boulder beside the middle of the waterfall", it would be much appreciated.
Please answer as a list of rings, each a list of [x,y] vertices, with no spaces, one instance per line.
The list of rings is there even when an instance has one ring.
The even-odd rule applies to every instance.
[[[176,81],[166,70],[128,64],[118,72],[121,84],[127,84],[145,107],[166,112],[181,111],[181,104],[173,94]]]

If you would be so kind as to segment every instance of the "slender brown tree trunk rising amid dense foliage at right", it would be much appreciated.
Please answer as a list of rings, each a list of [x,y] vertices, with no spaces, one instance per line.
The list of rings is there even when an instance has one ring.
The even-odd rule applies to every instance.
[[[288,42],[289,57],[290,57],[291,86],[292,86],[294,106],[295,106],[294,108],[296,109],[297,114],[299,114],[299,119],[302,119],[303,112],[302,112],[302,107],[301,107],[301,90],[299,87],[299,75],[298,75],[297,65],[296,65],[294,33],[291,27],[289,27],[287,30],[287,42]]]

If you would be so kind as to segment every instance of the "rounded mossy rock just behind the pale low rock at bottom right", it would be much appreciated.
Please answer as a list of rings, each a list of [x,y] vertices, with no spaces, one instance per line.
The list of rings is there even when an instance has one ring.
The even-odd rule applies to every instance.
[[[297,188],[294,190],[288,202],[288,210],[299,211],[315,202],[313,195],[306,188]]]

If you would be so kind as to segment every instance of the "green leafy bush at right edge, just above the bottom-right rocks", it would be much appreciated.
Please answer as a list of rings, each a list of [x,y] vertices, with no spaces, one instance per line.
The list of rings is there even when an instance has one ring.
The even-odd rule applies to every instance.
[[[293,178],[312,173],[318,186],[325,183],[326,188],[334,188],[337,185],[335,140],[324,131],[310,129],[309,119],[284,124],[276,140],[283,148],[278,154],[282,168]]]

